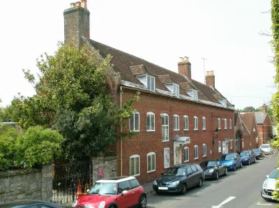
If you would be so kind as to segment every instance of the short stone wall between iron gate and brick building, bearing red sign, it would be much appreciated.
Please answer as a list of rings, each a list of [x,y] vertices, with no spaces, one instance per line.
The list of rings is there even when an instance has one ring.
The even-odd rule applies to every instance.
[[[98,156],[92,158],[93,183],[100,179],[116,177],[116,156]]]

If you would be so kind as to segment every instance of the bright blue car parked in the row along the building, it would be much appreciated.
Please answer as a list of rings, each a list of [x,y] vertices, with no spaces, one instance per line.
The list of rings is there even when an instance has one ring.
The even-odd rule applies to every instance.
[[[228,170],[242,168],[241,158],[237,153],[222,154],[219,158],[220,163],[227,166]]]

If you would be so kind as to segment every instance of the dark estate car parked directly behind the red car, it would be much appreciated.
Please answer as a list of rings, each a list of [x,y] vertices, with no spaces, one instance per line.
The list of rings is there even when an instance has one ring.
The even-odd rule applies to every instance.
[[[174,165],[161,174],[160,178],[153,181],[153,190],[156,193],[185,194],[190,187],[202,187],[205,179],[204,170],[196,163]]]

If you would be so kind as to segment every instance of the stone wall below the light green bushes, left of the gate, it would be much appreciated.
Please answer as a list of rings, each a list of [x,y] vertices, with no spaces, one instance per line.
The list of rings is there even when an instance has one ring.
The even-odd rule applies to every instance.
[[[14,200],[52,201],[52,165],[39,170],[0,172],[0,203]]]

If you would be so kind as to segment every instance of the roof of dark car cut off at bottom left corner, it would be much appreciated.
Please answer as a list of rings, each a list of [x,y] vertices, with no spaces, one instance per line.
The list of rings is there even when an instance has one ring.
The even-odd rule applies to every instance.
[[[62,205],[56,205],[50,202],[44,202],[39,200],[15,200],[12,202],[3,202],[0,203],[1,208],[12,208],[12,207],[20,207],[20,208],[30,208],[30,207],[47,207],[47,208],[62,208]]]

